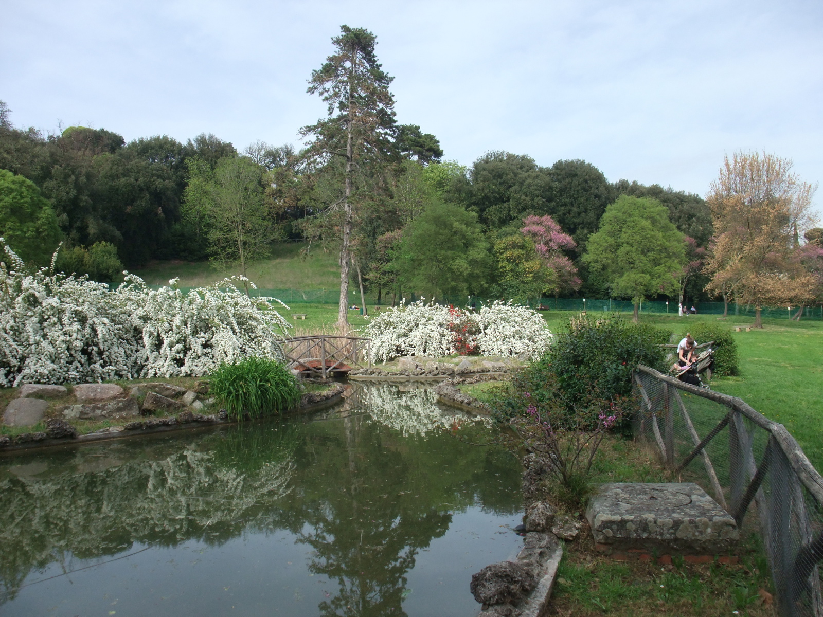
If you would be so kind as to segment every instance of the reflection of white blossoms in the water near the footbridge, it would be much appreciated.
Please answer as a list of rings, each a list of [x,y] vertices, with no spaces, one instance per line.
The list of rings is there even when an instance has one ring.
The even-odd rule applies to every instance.
[[[412,390],[398,392],[397,386],[374,385],[369,387],[365,399],[365,409],[372,420],[390,429],[399,430],[403,437],[421,435],[426,437],[432,430],[453,426],[467,419],[463,414],[446,414],[437,406],[434,390]]]

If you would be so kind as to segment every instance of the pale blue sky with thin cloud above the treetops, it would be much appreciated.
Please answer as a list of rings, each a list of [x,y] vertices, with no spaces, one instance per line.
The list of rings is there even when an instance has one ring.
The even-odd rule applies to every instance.
[[[0,100],[44,132],[299,146],[325,114],[306,80],[346,24],[377,35],[398,122],[463,165],[583,159],[705,195],[724,155],[757,150],[823,179],[817,0],[0,0],[0,16]]]

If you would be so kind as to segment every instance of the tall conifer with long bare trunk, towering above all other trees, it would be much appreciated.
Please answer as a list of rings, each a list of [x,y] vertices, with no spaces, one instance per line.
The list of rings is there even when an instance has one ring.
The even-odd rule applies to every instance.
[[[374,54],[376,37],[363,28],[341,26],[334,37],[336,52],[323,67],[313,71],[309,94],[328,103],[328,118],[301,128],[311,137],[307,155],[314,159],[340,158],[342,196],[330,209],[341,209],[340,308],[337,322],[348,323],[349,266],[355,221],[354,205],[362,179],[374,182],[379,168],[397,156],[394,99],[388,86],[393,81]]]

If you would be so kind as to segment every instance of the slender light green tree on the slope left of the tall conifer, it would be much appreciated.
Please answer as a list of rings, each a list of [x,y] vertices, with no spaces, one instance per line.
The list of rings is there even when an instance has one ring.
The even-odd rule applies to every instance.
[[[246,276],[249,262],[265,257],[275,239],[260,180],[263,168],[245,156],[224,157],[207,186],[205,219],[212,263]],[[244,282],[249,295],[249,281]]]

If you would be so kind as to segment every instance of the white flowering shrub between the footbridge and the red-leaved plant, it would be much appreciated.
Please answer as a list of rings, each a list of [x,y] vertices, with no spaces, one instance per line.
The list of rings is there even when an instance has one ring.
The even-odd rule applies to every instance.
[[[365,327],[371,339],[372,357],[392,360],[398,355],[430,355],[439,358],[454,353],[448,306],[417,300],[387,308]]]

